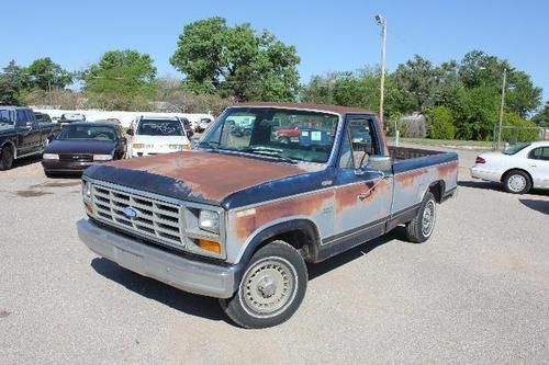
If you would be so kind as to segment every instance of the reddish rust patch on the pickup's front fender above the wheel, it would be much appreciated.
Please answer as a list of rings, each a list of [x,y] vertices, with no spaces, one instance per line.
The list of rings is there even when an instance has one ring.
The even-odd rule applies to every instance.
[[[264,225],[289,216],[313,216],[328,205],[333,191],[322,191],[295,198],[288,198],[256,207],[256,214],[236,219],[236,236],[244,243],[254,231]]]

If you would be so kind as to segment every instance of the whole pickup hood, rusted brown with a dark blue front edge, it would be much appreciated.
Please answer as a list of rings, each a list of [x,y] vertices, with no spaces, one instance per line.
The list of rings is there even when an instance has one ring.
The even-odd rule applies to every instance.
[[[169,197],[222,204],[239,191],[322,168],[190,150],[96,164],[85,175]]]

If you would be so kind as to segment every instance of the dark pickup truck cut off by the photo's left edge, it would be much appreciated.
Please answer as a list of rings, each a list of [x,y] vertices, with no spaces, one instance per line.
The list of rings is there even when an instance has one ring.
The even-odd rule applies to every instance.
[[[42,153],[59,128],[38,123],[30,107],[0,105],[0,170],[10,169],[16,159]]]

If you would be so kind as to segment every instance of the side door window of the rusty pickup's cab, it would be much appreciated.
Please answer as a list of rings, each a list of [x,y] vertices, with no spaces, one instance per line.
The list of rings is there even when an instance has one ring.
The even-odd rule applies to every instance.
[[[347,122],[346,136],[341,145],[339,168],[359,169],[365,167],[370,156],[379,155],[377,146],[371,118],[357,117],[349,119]]]

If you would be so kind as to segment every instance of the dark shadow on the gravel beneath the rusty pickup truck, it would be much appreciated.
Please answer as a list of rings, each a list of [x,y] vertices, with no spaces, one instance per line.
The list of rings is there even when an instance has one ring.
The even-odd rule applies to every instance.
[[[388,243],[392,240],[399,240],[404,237],[404,228],[397,227],[390,233],[380,237],[373,241],[362,243],[347,252],[328,259],[322,263],[309,265],[309,278],[315,280],[318,276],[329,273],[334,269],[345,265],[358,258],[368,254],[373,249]],[[126,287],[127,289],[143,295],[149,299],[159,301],[170,308],[182,311],[190,316],[197,316],[211,320],[223,320],[233,324],[223,313],[217,300],[210,297],[194,295],[182,292],[167,284],[160,283],[153,278],[148,278],[136,274],[130,270],[119,266],[112,261],[107,259],[93,259],[91,262],[93,270]]]

